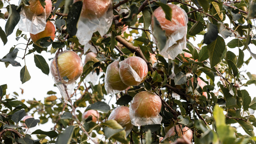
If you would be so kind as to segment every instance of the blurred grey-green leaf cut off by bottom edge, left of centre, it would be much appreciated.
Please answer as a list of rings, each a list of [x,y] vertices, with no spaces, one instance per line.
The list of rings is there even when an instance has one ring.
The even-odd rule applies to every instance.
[[[66,130],[59,134],[56,144],[70,144],[75,128],[75,126],[66,128]]]

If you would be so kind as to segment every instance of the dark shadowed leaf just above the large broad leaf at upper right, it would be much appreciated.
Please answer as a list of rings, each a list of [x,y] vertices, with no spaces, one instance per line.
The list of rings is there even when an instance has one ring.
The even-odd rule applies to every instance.
[[[203,44],[211,44],[218,37],[218,26],[207,22],[207,33],[204,34]]]

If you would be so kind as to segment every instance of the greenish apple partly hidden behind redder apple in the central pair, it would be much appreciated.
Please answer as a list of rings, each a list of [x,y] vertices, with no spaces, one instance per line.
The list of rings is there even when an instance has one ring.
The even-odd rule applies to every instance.
[[[128,86],[122,82],[119,75],[119,61],[114,61],[108,65],[105,75],[105,89],[123,91]],[[109,93],[109,92],[108,92]]]

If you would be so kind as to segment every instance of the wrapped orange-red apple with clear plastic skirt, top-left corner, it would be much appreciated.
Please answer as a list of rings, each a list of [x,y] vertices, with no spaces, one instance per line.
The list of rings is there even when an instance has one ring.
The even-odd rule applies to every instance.
[[[46,6],[42,7],[39,0],[30,0],[30,5],[22,5],[20,11],[19,30],[37,34],[42,32],[46,26],[46,19],[52,11],[52,1],[45,0]]]

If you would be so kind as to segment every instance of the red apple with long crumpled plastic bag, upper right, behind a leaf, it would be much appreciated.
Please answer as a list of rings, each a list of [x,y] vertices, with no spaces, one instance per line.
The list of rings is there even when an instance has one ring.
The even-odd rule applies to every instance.
[[[159,51],[159,53],[170,59],[174,59],[182,50],[186,48],[186,33],[188,16],[186,12],[176,6],[175,4],[168,4],[172,8],[172,21],[165,18],[165,13],[161,7],[157,8],[153,12],[153,16],[156,17],[162,30],[166,31],[166,45]],[[151,28],[153,30],[154,21],[152,18]],[[153,42],[157,44],[156,39],[153,37]]]

